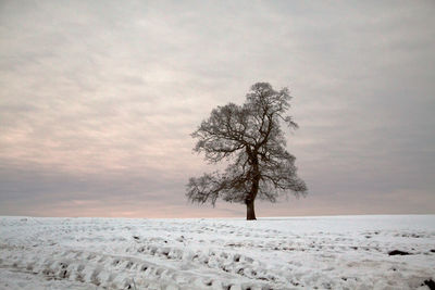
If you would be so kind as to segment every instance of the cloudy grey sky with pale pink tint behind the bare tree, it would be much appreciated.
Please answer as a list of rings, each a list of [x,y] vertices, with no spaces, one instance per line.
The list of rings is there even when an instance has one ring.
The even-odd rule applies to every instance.
[[[244,217],[190,204],[190,134],[288,87],[306,198],[258,216],[435,214],[435,2],[0,2],[0,215]],[[219,166],[217,166],[219,167]]]

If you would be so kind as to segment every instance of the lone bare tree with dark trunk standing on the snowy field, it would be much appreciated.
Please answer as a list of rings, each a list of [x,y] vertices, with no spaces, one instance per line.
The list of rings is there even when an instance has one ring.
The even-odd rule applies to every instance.
[[[186,196],[191,202],[213,205],[219,198],[245,203],[247,219],[256,219],[257,198],[276,202],[287,192],[304,196],[307,186],[296,174],[295,156],[286,151],[281,129],[281,123],[298,128],[286,115],[291,99],[288,89],[275,91],[268,83],[257,83],[246,97],[243,105],[214,109],[191,134],[198,139],[194,150],[203,152],[207,161],[229,164],[222,173],[191,177]]]

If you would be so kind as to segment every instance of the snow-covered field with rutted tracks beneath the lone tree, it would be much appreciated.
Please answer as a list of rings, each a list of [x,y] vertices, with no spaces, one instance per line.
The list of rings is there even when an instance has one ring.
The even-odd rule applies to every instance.
[[[0,289],[428,289],[431,280],[435,215],[0,217]]]

